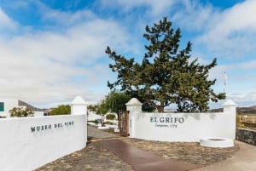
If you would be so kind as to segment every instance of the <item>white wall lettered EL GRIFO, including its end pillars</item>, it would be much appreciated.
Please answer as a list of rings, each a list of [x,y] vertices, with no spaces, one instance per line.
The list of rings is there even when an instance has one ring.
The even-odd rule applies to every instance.
[[[130,137],[143,140],[197,142],[205,137],[236,138],[236,105],[220,113],[145,113],[141,104],[127,105]]]

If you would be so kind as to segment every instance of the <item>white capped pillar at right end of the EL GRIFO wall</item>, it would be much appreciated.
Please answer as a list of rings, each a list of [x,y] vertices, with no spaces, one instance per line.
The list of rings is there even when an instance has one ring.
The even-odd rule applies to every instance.
[[[230,119],[227,121],[227,131],[230,130],[230,138],[233,140],[236,139],[236,106],[237,104],[232,100],[226,100],[223,104],[224,115],[230,114]]]

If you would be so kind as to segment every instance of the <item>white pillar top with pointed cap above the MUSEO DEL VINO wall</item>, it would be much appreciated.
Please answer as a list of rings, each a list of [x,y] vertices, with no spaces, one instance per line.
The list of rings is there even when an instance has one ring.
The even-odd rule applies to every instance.
[[[87,103],[83,100],[82,97],[77,96],[71,102],[71,115],[87,115]]]

